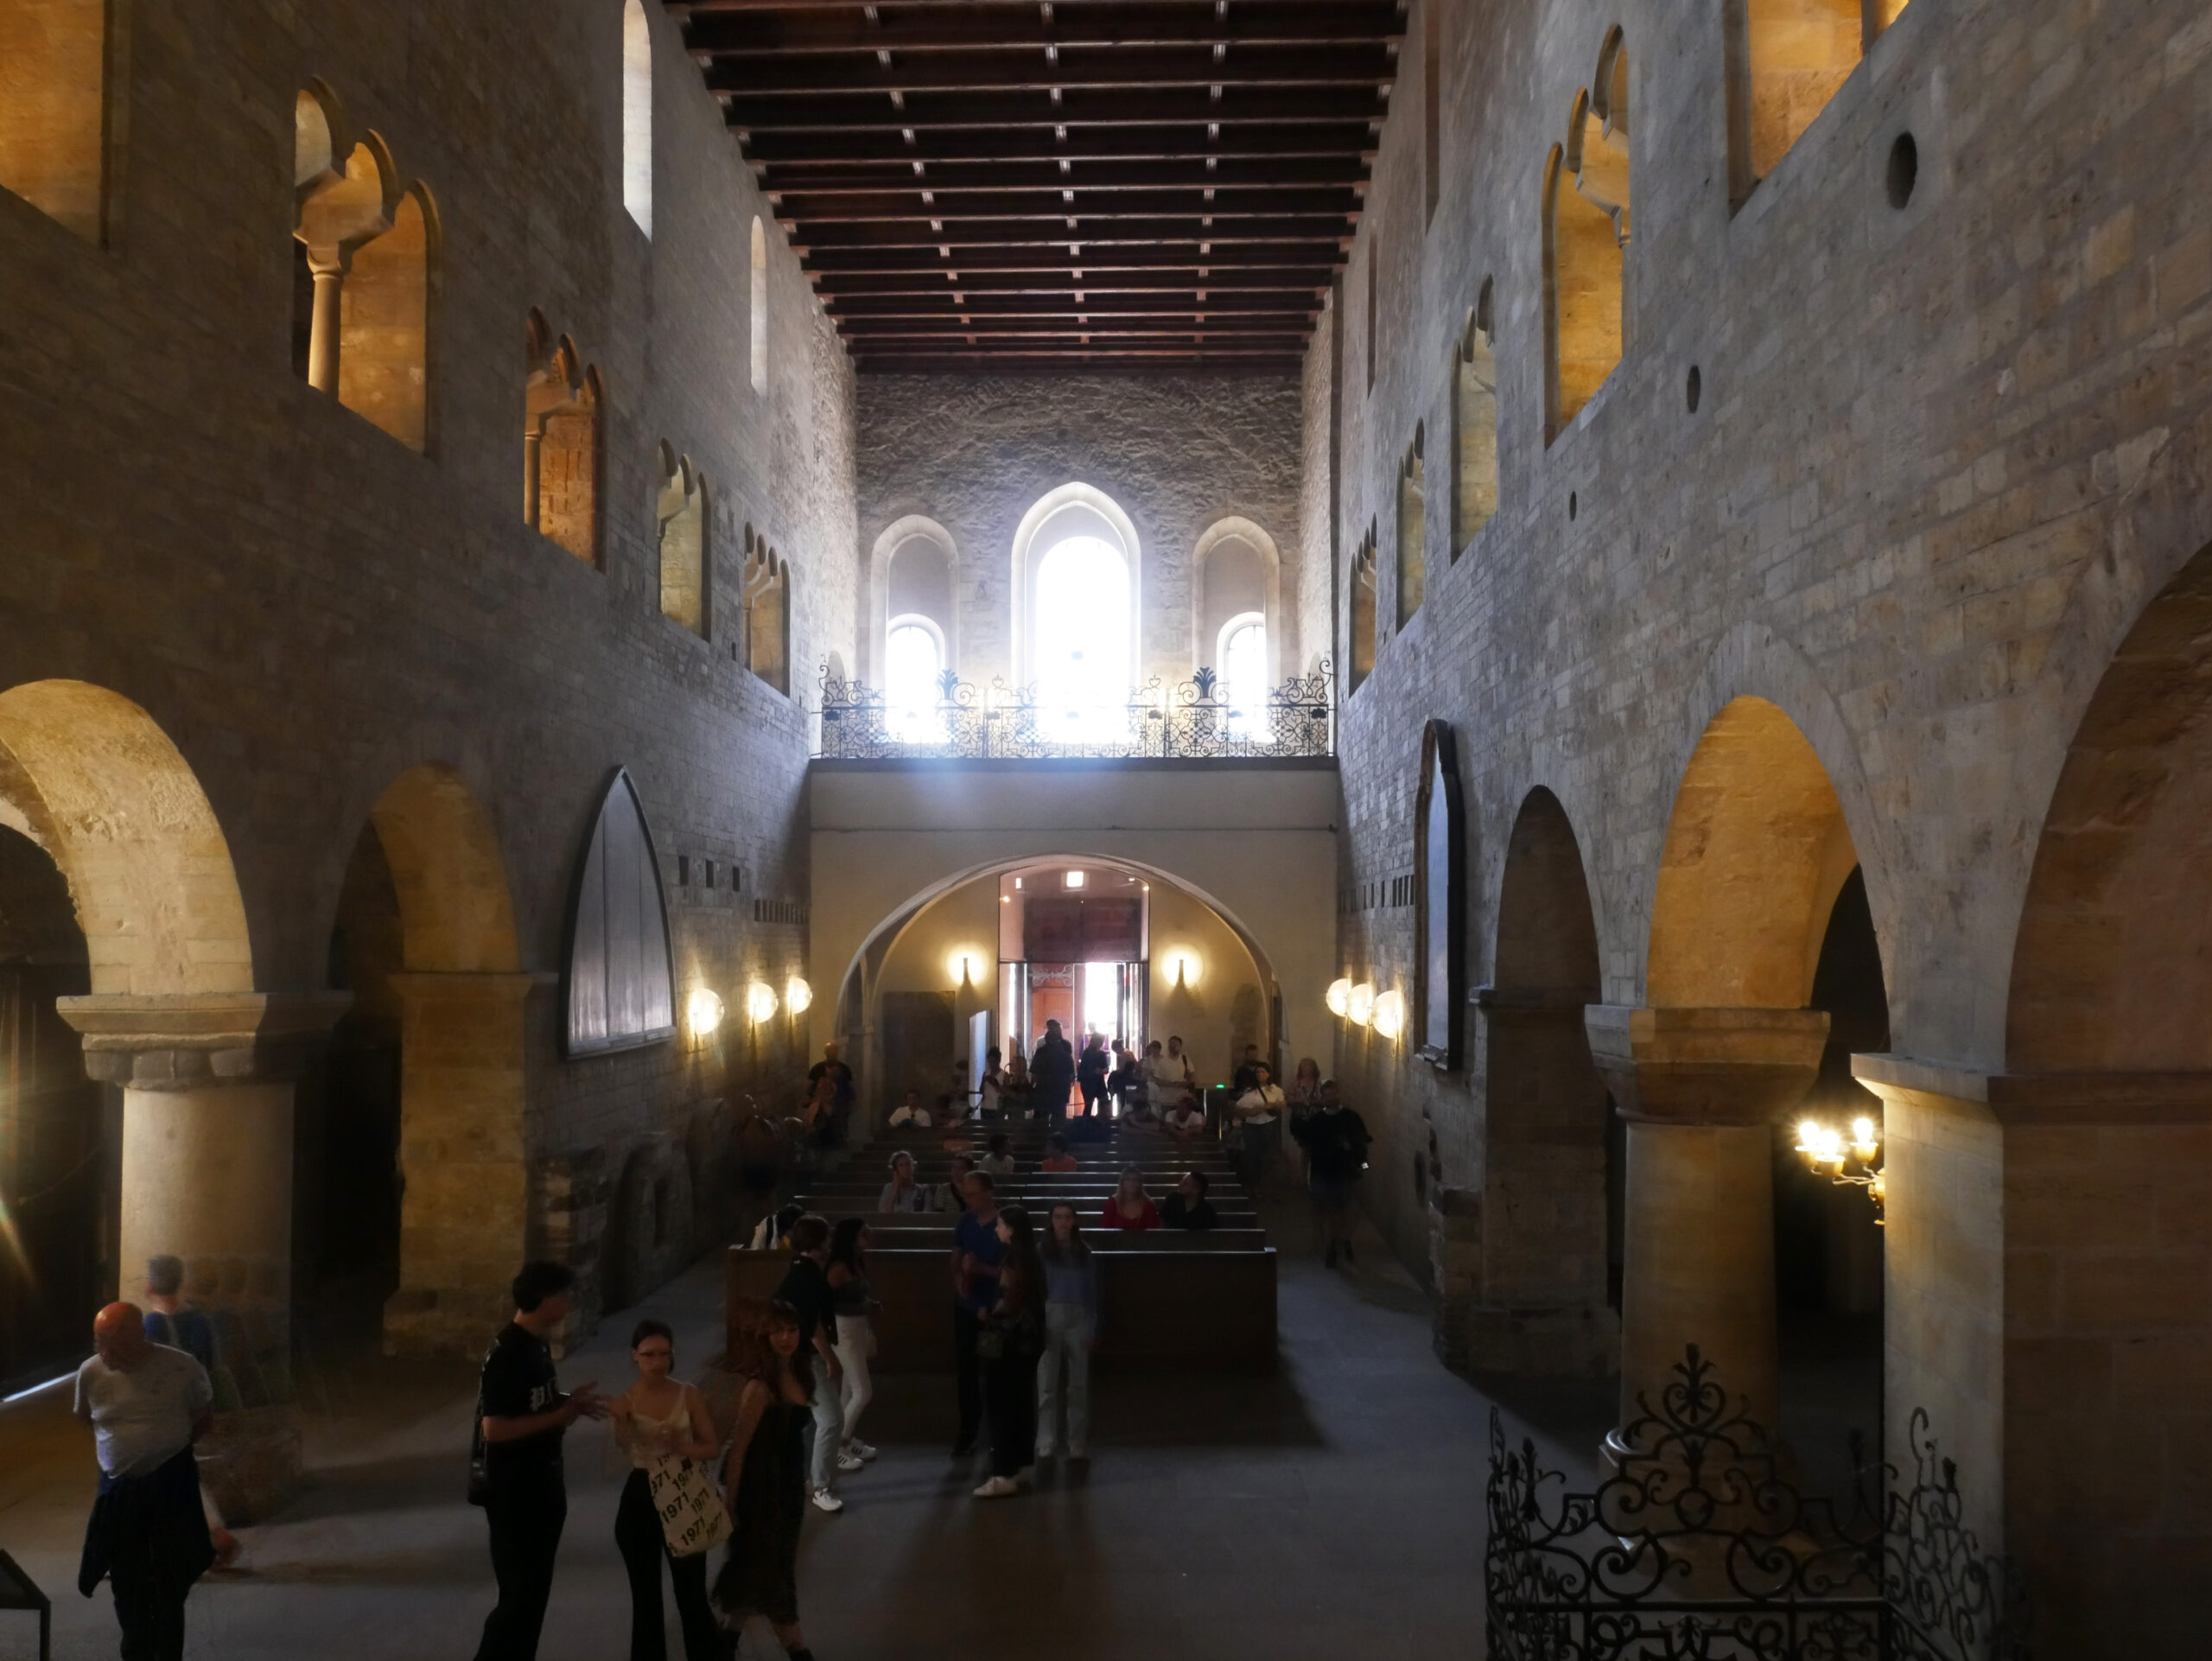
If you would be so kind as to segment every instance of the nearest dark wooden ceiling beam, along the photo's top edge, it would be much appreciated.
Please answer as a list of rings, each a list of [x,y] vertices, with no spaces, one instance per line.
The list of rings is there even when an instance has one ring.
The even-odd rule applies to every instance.
[[[675,11],[677,7],[670,7]],[[1329,46],[1405,33],[1391,0],[1035,0],[1009,4],[695,7],[686,44],[699,58],[841,51],[1042,51],[1046,46]]]

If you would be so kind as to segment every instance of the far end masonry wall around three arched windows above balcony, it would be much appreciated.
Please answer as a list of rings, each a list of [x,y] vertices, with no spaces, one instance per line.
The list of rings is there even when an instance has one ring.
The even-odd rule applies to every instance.
[[[1013,679],[1015,531],[1037,498],[1071,482],[1110,495],[1137,529],[1146,677],[1172,686],[1197,668],[1192,555],[1206,529],[1228,515],[1274,540],[1281,615],[1294,628],[1294,595],[1310,577],[1301,400],[1290,380],[872,374],[858,383],[858,431],[860,549],[907,515],[951,533],[953,666],[975,686]],[[1325,639],[1292,633],[1279,641],[1283,675],[1327,650]],[[860,661],[869,661],[865,650]]]

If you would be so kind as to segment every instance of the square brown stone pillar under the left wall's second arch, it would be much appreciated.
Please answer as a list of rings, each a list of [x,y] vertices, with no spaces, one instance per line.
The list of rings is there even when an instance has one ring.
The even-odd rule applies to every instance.
[[[482,1354],[531,1252],[524,1006],[551,975],[398,973],[400,1287],[385,1354]]]

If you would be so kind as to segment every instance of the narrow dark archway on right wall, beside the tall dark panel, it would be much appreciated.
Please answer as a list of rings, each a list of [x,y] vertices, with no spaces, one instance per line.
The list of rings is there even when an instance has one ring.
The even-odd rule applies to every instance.
[[[1615,1119],[1582,1011],[1599,1000],[1597,920],[1559,798],[1531,790],[1498,889],[1484,1015],[1482,1278],[1467,1362],[1608,1373],[1619,1300]]]

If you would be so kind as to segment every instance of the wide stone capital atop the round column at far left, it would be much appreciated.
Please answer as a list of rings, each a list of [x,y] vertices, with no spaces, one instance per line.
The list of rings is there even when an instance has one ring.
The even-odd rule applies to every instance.
[[[84,1035],[84,1070],[133,1090],[299,1077],[352,993],[91,993],[55,1011]]]

